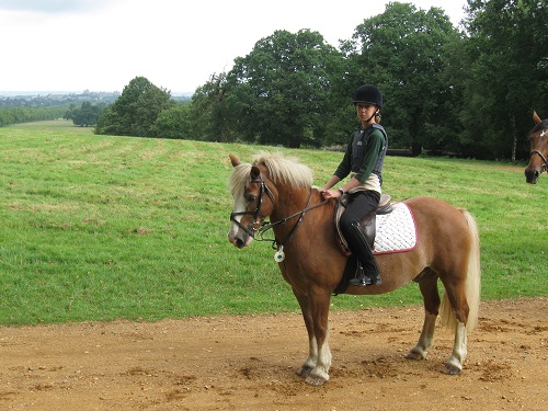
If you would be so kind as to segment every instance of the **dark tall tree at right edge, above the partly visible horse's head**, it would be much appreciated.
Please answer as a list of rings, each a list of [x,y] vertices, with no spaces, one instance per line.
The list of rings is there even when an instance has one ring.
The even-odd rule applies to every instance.
[[[469,0],[470,78],[461,139],[470,155],[526,157],[533,110],[548,112],[548,4],[538,0]],[[473,149],[472,149],[473,148]]]

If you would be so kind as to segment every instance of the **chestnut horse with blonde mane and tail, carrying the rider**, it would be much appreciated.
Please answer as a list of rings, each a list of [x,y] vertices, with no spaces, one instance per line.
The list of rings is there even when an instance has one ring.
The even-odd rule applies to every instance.
[[[329,306],[341,282],[346,256],[335,239],[333,213],[336,199],[324,201],[312,187],[310,169],[296,159],[262,152],[253,163],[230,155],[233,172],[229,190],[235,206],[228,240],[249,246],[255,235],[273,230],[275,260],[302,311],[309,354],[298,370],[305,381],[320,386],[329,380]],[[425,317],[419,342],[407,358],[423,359],[432,347],[438,313],[455,331],[453,352],[444,372],[458,374],[467,356],[467,333],[476,326],[480,301],[480,251],[476,221],[466,209],[439,199],[412,197],[418,244],[412,251],[377,255],[383,279],[373,286],[349,286],[352,295],[383,294],[411,281],[419,283]],[[270,217],[270,221],[266,218]],[[273,221],[273,222],[271,222]],[[437,279],[445,287],[442,304]],[[441,308],[442,307],[442,308]]]

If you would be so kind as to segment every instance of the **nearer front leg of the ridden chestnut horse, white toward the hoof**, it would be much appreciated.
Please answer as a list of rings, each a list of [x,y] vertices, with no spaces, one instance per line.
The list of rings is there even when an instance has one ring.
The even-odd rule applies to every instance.
[[[313,339],[317,344],[316,366],[306,378],[312,386],[321,386],[329,380],[331,367],[331,350],[329,349],[329,302],[331,290],[312,286],[308,295],[312,315]]]

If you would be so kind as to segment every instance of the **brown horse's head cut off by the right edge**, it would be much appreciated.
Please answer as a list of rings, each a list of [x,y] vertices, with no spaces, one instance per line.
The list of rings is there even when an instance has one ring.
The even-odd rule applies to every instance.
[[[529,184],[536,184],[540,174],[548,171],[548,119],[540,119],[534,111],[533,122],[535,126],[529,132],[529,163],[525,169],[525,180]]]

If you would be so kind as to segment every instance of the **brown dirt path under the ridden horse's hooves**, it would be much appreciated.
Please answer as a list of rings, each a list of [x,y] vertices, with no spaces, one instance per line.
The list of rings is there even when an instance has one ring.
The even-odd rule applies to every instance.
[[[331,380],[302,383],[299,315],[0,328],[0,410],[548,410],[548,299],[483,302],[458,376],[452,336],[404,359],[421,307],[331,313]]]

